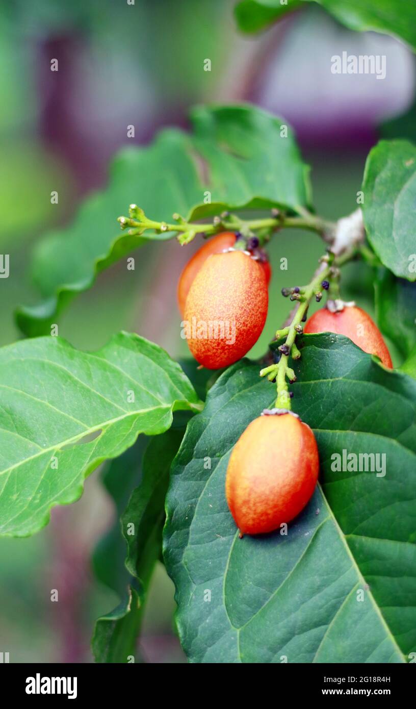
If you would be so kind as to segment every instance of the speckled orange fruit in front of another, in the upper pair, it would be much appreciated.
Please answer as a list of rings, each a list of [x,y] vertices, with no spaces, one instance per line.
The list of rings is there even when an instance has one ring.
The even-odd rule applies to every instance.
[[[188,346],[193,357],[207,369],[227,367],[244,357],[262,333],[268,303],[259,262],[242,251],[208,257],[189,290],[184,321],[206,323],[207,328],[220,321],[225,323],[225,337],[196,337],[191,332]]]

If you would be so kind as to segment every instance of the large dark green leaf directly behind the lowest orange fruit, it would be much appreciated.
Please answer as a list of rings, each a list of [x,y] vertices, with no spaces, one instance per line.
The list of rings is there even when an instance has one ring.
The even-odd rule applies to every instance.
[[[164,558],[191,661],[400,663],[416,647],[416,382],[341,335],[302,345],[293,404],[322,490],[287,536],[240,540],[225,501],[232,447],[274,401],[257,365],[218,379],[174,461]],[[333,472],[343,449],[386,453],[386,476]]]

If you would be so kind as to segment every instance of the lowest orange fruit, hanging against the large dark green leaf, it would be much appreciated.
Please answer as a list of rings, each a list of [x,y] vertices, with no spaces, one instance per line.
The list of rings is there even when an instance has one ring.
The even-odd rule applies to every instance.
[[[318,471],[307,424],[290,413],[255,418],[232,450],[225,481],[240,537],[273,532],[293,520],[312,497]]]

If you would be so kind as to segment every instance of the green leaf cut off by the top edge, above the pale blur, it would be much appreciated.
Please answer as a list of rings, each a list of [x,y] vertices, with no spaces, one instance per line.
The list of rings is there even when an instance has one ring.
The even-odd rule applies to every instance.
[[[235,14],[242,30],[255,32],[305,2],[317,2],[352,30],[395,35],[416,49],[416,6],[408,0],[242,0]]]

